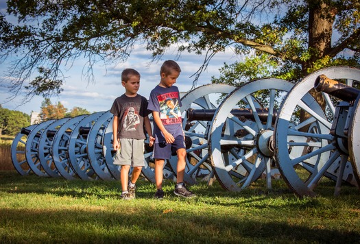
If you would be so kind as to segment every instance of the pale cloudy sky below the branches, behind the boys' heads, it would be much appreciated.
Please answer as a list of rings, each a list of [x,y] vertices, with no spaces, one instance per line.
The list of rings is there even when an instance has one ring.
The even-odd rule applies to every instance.
[[[5,12],[6,1],[0,0],[0,12]],[[211,77],[219,76],[219,69],[224,62],[232,63],[238,60],[231,50],[224,53],[217,53],[211,60],[207,69],[202,72],[197,86],[211,83]],[[193,84],[194,77],[191,77],[204,62],[204,56],[198,56],[195,53],[182,53],[178,58],[178,52],[175,48],[171,48],[158,62],[151,61],[151,53],[146,51],[141,45],[134,46],[130,57],[126,62],[117,65],[104,66],[104,63],[97,63],[93,66],[95,82],[88,82],[86,77],[82,75],[83,69],[86,69],[85,60],[78,59],[73,66],[64,72],[67,80],[64,82],[62,88],[64,89],[59,96],[51,97],[51,102],[58,103],[60,101],[65,108],[71,110],[73,107],[85,108],[89,112],[99,112],[110,110],[112,102],[115,98],[122,95],[125,90],[121,86],[121,71],[126,68],[136,69],[141,73],[139,94],[147,99],[151,90],[160,81],[160,66],[165,60],[176,60],[182,69],[180,77],[176,82],[180,92],[188,92]],[[10,60],[9,60],[10,61]],[[0,66],[0,80],[5,76],[8,62]],[[0,104],[3,108],[10,110],[19,110],[30,114],[32,111],[40,112],[41,102],[43,97],[34,97],[32,101],[21,104],[23,97],[19,95],[16,99],[9,101],[8,90],[0,88]]]

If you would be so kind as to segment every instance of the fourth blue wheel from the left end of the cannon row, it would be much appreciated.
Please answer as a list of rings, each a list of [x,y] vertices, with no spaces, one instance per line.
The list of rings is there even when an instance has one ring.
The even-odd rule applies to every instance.
[[[70,140],[70,134],[75,126],[87,116],[88,115],[80,115],[69,119],[69,121],[65,122],[56,131],[55,136],[53,136],[53,162],[60,175],[67,180],[78,179],[69,162],[67,143]]]

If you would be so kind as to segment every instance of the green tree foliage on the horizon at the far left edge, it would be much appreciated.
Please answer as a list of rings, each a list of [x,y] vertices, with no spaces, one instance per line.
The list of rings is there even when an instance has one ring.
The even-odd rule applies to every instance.
[[[8,110],[0,106],[0,135],[14,136],[20,132],[22,127],[30,125],[30,117],[20,111]]]

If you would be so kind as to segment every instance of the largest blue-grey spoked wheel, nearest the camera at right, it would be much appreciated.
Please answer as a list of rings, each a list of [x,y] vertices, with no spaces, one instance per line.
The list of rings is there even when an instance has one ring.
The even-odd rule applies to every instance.
[[[353,80],[357,80],[360,75],[360,70],[345,66],[336,66],[316,71],[294,86],[283,101],[274,136],[276,149],[278,150],[276,159],[285,182],[287,182],[289,188],[300,197],[315,196],[315,188],[320,184],[322,179],[324,179],[323,176],[331,179],[337,178],[337,171],[334,169],[337,169],[337,164],[341,161],[341,158],[344,158],[344,154],[341,154],[341,151],[337,150],[336,138],[329,134],[332,122],[328,121],[326,114],[324,114],[321,108],[320,110],[317,110],[317,108],[309,108],[309,104],[311,103],[304,101],[304,97],[308,94],[309,90],[313,88],[316,77],[322,74],[331,79],[346,79],[347,82],[352,82]],[[326,99],[329,111],[334,114],[335,106],[331,103],[331,99],[329,99],[327,94],[322,93],[322,95]],[[316,123],[317,131],[310,132],[310,134],[299,132],[306,121],[288,130],[283,129],[289,127],[289,121],[291,121],[291,116],[294,110],[296,110],[296,106],[310,114],[309,119],[306,121]],[[304,151],[301,156],[291,158],[289,154],[281,153],[282,151],[287,151],[289,146],[293,148],[298,146],[296,143],[289,141],[290,135],[296,135],[305,141],[310,140],[307,144],[307,151]],[[346,164],[348,171],[345,172],[344,176],[352,174],[350,162],[346,162]],[[346,178],[348,178],[348,176],[346,176]],[[343,180],[346,179],[343,178]]]

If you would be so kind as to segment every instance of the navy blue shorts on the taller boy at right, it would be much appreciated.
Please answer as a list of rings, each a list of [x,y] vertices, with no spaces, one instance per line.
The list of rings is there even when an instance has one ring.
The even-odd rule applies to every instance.
[[[176,136],[173,143],[155,143],[152,155],[154,159],[170,159],[171,154],[176,155],[176,151],[180,148],[186,149],[184,136]]]

